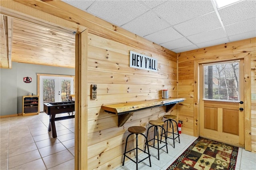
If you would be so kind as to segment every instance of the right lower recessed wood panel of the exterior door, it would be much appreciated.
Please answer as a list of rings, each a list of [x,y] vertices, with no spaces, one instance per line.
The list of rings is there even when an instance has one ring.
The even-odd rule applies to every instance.
[[[239,112],[238,110],[223,109],[223,132],[239,135]]]

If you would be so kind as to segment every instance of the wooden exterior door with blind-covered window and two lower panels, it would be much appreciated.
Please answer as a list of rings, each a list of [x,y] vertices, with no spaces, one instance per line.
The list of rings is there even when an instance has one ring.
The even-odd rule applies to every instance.
[[[244,64],[236,62],[200,65],[199,131],[202,137],[244,147]]]

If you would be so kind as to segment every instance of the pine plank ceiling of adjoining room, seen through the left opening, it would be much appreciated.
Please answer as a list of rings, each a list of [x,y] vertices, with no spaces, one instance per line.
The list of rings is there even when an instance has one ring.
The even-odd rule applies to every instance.
[[[75,35],[14,19],[12,61],[75,67]]]

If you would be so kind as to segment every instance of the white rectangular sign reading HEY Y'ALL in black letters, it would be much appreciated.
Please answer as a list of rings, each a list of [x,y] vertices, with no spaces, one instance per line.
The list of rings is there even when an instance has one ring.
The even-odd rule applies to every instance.
[[[130,67],[157,72],[157,59],[130,51]]]

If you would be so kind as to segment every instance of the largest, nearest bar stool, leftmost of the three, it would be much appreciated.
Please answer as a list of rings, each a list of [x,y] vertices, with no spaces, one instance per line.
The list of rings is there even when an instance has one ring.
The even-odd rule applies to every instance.
[[[132,162],[136,163],[136,170],[138,170],[138,163],[142,162],[146,158],[149,158],[149,164],[150,164],[150,167],[151,167],[149,147],[148,147],[148,153],[146,152],[146,146],[148,146],[148,140],[147,140],[146,136],[143,134],[144,132],[146,132],[146,128],[141,127],[141,126],[133,126],[133,127],[128,128],[128,132],[130,132],[130,134],[126,138],[125,149],[124,149],[124,159],[125,159],[125,157],[129,158],[126,155],[126,153],[136,149],[136,162],[134,160],[132,160],[131,158],[129,158],[130,160],[132,160]],[[132,134],[136,134],[136,148],[126,152],[127,141],[128,141],[129,136],[131,136]],[[138,134],[141,134],[142,136],[144,136],[146,138],[145,150],[142,150],[142,149],[138,148]],[[148,154],[148,156],[146,158],[144,158],[143,160],[140,160],[139,162],[138,162],[138,149],[143,151],[144,153]],[[123,160],[123,165],[122,166],[124,166],[124,160]]]

